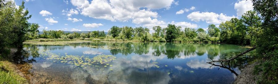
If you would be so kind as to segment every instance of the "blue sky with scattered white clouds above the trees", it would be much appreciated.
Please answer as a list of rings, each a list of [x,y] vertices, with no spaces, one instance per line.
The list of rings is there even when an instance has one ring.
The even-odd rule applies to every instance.
[[[15,0],[21,5],[22,0]],[[240,18],[250,0],[24,0],[39,30],[108,31],[112,26],[204,28]],[[152,32],[152,30],[151,30]]]

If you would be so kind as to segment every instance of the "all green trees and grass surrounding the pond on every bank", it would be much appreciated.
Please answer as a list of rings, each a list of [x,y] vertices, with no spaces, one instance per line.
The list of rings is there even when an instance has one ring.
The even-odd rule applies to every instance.
[[[9,48],[22,48],[24,41],[137,41],[137,42],[180,42],[180,43],[226,43],[256,46],[256,55],[263,58],[255,66],[255,74],[263,73],[257,81],[260,84],[278,82],[278,1],[252,0],[254,10],[247,11],[241,18],[232,18],[218,27],[208,25],[208,29],[182,28],[169,24],[166,28],[112,26],[104,31],[89,33],[64,33],[61,30],[43,30],[39,34],[39,24],[29,23],[32,15],[25,9],[24,2],[18,8],[15,2],[0,0],[0,57],[4,59]],[[43,39],[41,39],[43,38]],[[2,66],[1,66],[2,67]],[[13,69],[2,67],[0,82],[21,82],[24,80],[12,72]],[[5,79],[3,79],[5,78]]]

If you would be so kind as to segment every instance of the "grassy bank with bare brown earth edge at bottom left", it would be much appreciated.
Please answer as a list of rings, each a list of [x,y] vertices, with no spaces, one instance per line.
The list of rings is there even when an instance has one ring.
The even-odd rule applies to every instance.
[[[16,48],[10,48],[10,54],[7,55],[7,58],[13,58],[16,52],[18,52]],[[12,60],[7,60],[7,58],[0,60],[0,72],[3,75],[1,77],[8,78],[2,81],[2,83],[30,84],[32,74],[29,70],[32,68],[32,65],[27,62],[15,63]]]

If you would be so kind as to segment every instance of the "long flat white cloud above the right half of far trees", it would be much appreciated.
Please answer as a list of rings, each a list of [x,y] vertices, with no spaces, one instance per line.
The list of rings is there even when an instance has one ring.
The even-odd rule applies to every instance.
[[[192,12],[187,15],[187,18],[190,19],[191,21],[199,22],[201,21],[206,21],[209,24],[220,24],[223,21],[228,21],[231,18],[236,18],[234,15],[233,16],[227,16],[225,14],[216,14],[213,12],[202,12],[200,13],[199,11],[197,12]]]

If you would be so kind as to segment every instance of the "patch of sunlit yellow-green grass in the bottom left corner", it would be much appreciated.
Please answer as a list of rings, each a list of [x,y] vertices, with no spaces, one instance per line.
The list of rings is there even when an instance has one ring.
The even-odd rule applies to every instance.
[[[0,84],[27,84],[27,79],[21,77],[9,61],[0,61]]]

